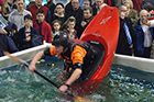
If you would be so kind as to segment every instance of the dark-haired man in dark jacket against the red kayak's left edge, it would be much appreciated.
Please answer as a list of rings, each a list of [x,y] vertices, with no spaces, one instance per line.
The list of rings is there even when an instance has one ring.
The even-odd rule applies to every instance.
[[[82,32],[85,31],[85,29],[87,27],[87,25],[89,24],[89,22],[92,20],[92,9],[89,8],[85,8],[84,9],[84,19],[80,23]]]

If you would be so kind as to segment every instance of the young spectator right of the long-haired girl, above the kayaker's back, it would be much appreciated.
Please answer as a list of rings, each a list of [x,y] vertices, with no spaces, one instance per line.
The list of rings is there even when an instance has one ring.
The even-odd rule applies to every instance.
[[[77,38],[77,31],[75,30],[76,19],[74,16],[68,18],[63,26],[63,31],[68,34],[69,39]]]

